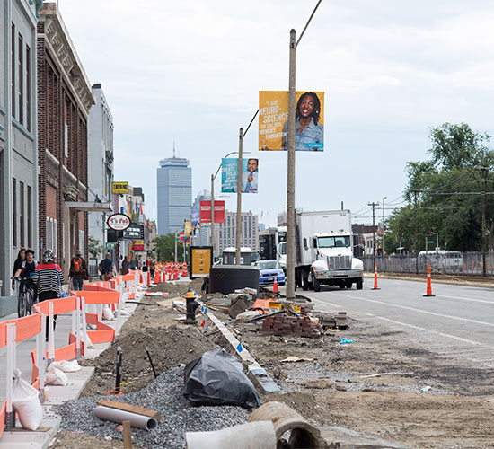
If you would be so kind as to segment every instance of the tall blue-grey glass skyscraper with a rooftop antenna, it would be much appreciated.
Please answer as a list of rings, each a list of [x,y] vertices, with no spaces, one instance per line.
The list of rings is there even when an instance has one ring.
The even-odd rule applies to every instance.
[[[189,160],[180,157],[163,159],[157,169],[158,233],[181,231],[190,220],[192,205],[192,169]]]

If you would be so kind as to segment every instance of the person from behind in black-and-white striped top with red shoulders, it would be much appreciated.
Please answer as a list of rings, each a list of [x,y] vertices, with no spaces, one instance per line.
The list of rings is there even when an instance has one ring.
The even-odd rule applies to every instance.
[[[56,299],[58,297],[66,297],[67,294],[62,289],[64,282],[64,273],[62,269],[55,262],[53,252],[47,250],[43,252],[43,258],[41,263],[38,264],[34,270],[34,277],[32,282],[38,290],[38,300],[41,303],[47,299]],[[55,324],[57,322],[57,315],[53,316],[53,329],[55,330]],[[49,317],[47,317],[47,333],[46,339],[48,341],[49,335]]]

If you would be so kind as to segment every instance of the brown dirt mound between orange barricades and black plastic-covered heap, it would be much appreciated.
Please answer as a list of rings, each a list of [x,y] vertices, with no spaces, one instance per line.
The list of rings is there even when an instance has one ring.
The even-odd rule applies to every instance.
[[[154,380],[153,370],[146,355],[149,349],[156,374],[180,364],[187,364],[204,352],[218,348],[194,327],[154,328],[142,326],[120,335],[115,343],[99,357],[85,360],[83,365],[94,366],[93,379],[82,396],[105,394],[115,388],[117,348],[123,352],[122,385],[124,392],[136,392]]]

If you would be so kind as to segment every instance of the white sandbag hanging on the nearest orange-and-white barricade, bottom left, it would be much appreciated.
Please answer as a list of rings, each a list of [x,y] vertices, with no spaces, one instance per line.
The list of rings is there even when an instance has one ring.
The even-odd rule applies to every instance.
[[[21,377],[21,371],[13,372],[13,409],[19,414],[21,426],[28,430],[36,430],[43,420],[39,392]]]

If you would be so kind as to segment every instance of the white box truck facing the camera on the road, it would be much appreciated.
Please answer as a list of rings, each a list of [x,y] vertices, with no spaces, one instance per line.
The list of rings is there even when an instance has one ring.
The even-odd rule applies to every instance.
[[[364,285],[364,264],[353,257],[349,210],[296,214],[296,286],[321,290],[322,285],[357,290]]]

